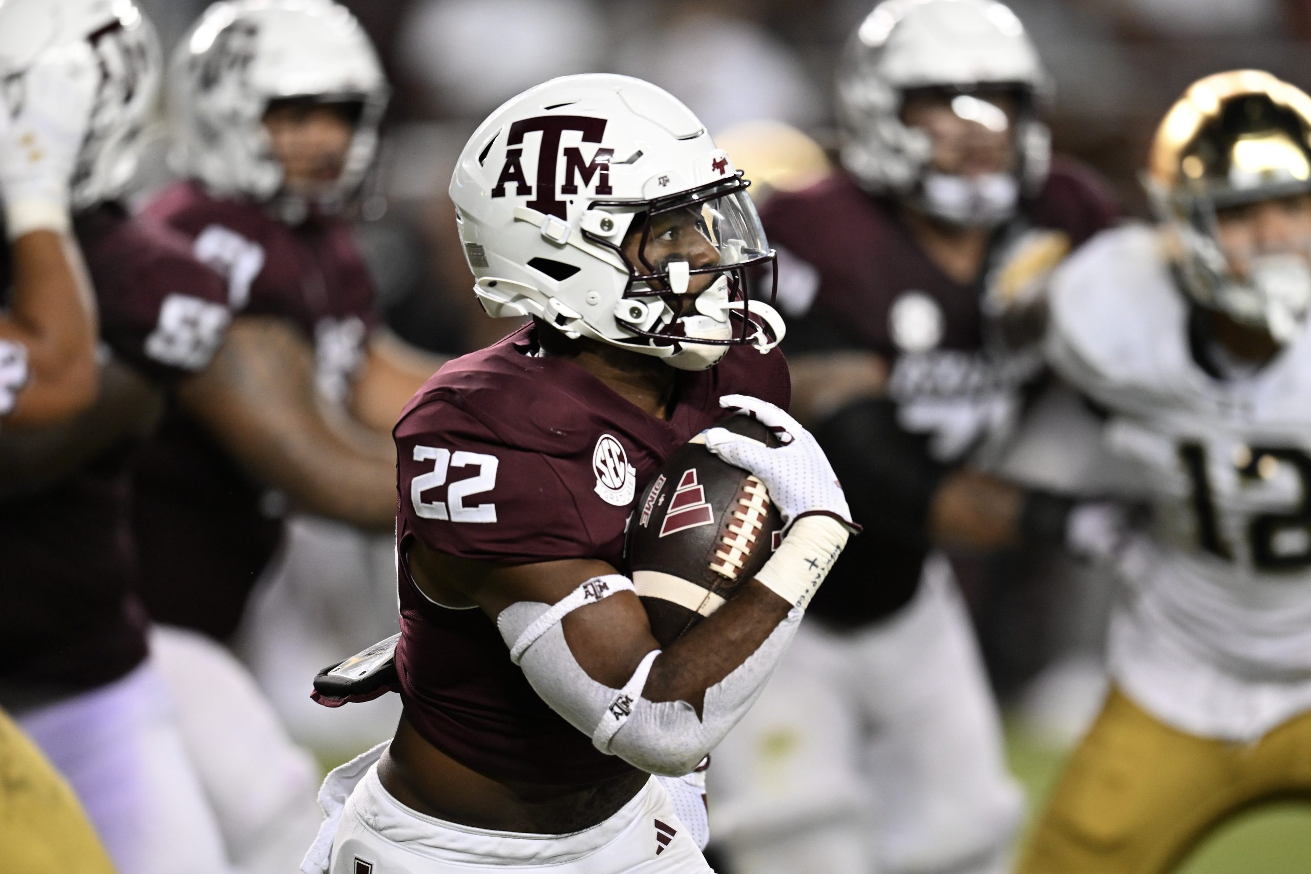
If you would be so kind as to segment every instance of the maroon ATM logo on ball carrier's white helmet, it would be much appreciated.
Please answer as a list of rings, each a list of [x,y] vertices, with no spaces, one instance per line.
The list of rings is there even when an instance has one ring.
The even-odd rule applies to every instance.
[[[514,186],[513,197],[531,197],[524,206],[568,219],[568,204],[557,198],[556,170],[560,159],[564,159],[564,180],[560,185],[560,195],[578,194],[578,183],[590,186],[595,180],[594,193],[599,195],[614,194],[610,185],[610,159],[615,149],[598,147],[591,160],[582,155],[577,145],[566,145],[560,149],[560,138],[565,131],[578,131],[583,143],[600,143],[606,132],[604,118],[590,118],[587,115],[538,115],[535,118],[522,118],[510,124],[506,135],[505,164],[497,176],[492,197],[503,198],[509,187]],[[526,134],[540,134],[538,144],[538,178],[528,182],[528,176],[523,170],[523,138]]]

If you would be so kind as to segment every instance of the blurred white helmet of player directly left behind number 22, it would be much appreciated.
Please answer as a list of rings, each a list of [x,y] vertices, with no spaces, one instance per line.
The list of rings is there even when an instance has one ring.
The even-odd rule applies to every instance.
[[[374,161],[389,89],[368,35],[330,0],[215,3],[182,38],[170,73],[174,160],[215,194],[286,195],[264,126],[277,100],[361,105],[346,165],[319,207],[338,208]]]

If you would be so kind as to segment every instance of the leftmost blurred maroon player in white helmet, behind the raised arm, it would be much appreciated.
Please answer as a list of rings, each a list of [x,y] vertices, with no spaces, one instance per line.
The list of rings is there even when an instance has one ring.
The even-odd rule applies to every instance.
[[[0,46],[22,59],[5,80],[10,123],[67,172],[7,180],[5,197],[41,190],[18,219],[72,228],[105,349],[87,411],[0,432],[0,706],[68,778],[121,870],[228,871],[132,594],[128,456],[159,388],[203,368],[228,324],[222,279],[119,203],[159,93],[159,45],[130,1],[10,0]]]

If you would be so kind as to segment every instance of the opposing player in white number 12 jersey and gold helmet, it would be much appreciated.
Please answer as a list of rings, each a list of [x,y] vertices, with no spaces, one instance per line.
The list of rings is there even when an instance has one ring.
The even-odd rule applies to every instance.
[[[1158,223],[1053,279],[1047,351],[1106,413],[1151,524],[1118,562],[1113,685],[1021,870],[1159,874],[1311,798],[1311,97],[1207,76],[1152,142]]]

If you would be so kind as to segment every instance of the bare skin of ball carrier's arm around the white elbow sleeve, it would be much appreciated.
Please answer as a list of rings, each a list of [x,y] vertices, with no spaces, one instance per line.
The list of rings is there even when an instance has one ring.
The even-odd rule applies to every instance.
[[[510,604],[555,604],[581,583],[616,573],[603,561],[568,560],[532,565],[493,565],[410,546],[410,574],[420,588],[443,604],[476,604],[493,621]],[[656,658],[642,697],[687,701],[701,709],[705,689],[755,653],[787,616],[791,605],[756,580]],[[621,688],[637,664],[659,643],[646,611],[633,592],[619,592],[576,609],[561,624],[565,641],[587,675]]]

